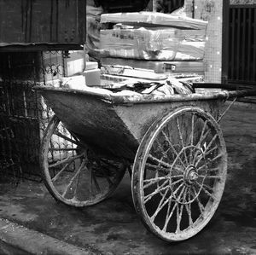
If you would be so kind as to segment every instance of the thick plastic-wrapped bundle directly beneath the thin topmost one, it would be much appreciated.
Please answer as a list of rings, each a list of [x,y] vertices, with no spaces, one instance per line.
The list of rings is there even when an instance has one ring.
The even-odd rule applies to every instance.
[[[105,55],[153,61],[201,61],[205,31],[171,29],[109,29],[101,31]]]

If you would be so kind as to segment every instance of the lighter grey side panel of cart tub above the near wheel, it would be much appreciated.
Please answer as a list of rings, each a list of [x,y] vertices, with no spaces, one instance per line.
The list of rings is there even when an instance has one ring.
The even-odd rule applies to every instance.
[[[219,109],[222,104],[223,101],[218,99],[204,101],[154,102],[134,104],[130,106],[117,106],[115,107],[115,111],[119,118],[124,121],[128,130],[131,130],[132,136],[140,142],[150,125],[152,125],[156,119],[161,118],[161,116],[171,112],[173,109],[184,106],[201,107],[211,113],[215,119],[218,119]]]

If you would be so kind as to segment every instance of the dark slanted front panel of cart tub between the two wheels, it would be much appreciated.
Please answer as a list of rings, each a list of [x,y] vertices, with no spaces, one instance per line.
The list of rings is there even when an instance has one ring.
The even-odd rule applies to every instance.
[[[94,96],[42,91],[49,107],[97,154],[134,159],[138,142],[113,106]]]

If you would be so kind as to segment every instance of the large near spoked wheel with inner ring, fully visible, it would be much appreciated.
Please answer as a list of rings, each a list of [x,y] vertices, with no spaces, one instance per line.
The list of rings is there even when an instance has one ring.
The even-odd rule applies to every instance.
[[[143,137],[132,175],[132,197],[148,229],[183,241],[203,229],[224,192],[227,154],[222,131],[199,107],[182,107]]]

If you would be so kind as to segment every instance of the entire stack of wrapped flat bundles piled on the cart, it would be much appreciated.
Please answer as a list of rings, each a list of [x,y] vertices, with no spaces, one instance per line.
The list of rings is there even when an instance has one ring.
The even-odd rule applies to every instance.
[[[101,22],[112,26],[100,32],[105,84],[118,86],[120,80],[122,84],[147,80],[168,84],[166,74],[185,82],[202,80],[206,21],[183,14],[140,12],[102,14]]]

